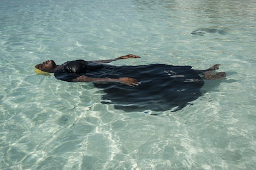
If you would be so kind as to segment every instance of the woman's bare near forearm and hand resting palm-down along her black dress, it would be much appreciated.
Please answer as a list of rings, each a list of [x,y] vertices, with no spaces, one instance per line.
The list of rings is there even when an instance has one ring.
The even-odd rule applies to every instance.
[[[122,84],[125,84],[127,86],[138,86],[140,82],[136,81],[136,79],[132,79],[129,77],[122,77],[119,79],[112,79],[112,78],[92,78],[92,77],[87,77],[84,75],[81,75],[77,77],[76,79],[72,80],[73,82],[95,82],[95,83],[106,83],[106,82],[120,82]]]

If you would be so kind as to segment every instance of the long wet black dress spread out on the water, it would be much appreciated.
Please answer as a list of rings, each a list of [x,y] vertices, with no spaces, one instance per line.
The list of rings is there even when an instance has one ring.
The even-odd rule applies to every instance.
[[[163,64],[142,66],[95,65],[83,73],[55,73],[57,79],[72,81],[80,75],[88,77],[131,77],[140,81],[139,86],[130,87],[119,82],[94,84],[102,88],[102,104],[114,104],[124,111],[175,111],[201,96],[200,88],[204,81],[191,69],[191,66],[172,66]]]

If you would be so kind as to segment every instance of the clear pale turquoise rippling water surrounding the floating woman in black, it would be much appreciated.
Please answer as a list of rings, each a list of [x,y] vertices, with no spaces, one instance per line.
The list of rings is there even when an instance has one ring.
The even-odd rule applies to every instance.
[[[249,0],[1,1],[0,169],[255,169],[255,11]],[[227,79],[177,112],[124,112],[93,84],[33,72],[125,54],[141,58],[112,64],[220,63]]]

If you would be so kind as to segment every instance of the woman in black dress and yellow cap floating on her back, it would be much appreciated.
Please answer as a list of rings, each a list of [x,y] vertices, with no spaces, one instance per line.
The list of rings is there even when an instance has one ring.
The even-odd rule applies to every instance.
[[[113,66],[119,59],[140,58],[132,54],[100,61],[68,61],[56,65],[53,60],[35,66],[39,74],[54,73],[56,79],[68,82],[93,82],[104,89],[103,104],[115,104],[124,111],[178,111],[202,95],[203,79],[223,79],[225,72],[215,73],[220,65],[207,70],[193,70],[192,66],[164,64]],[[201,75],[201,76],[200,76]],[[107,101],[106,101],[107,100]],[[109,102],[109,100],[111,102]]]

